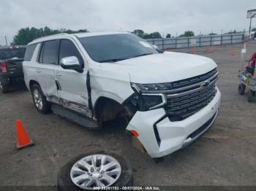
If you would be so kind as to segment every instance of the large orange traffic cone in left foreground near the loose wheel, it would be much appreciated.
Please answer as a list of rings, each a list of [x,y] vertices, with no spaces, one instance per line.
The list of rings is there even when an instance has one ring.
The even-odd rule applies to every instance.
[[[23,147],[34,145],[33,141],[29,138],[28,133],[26,133],[25,128],[23,128],[23,125],[20,120],[16,121],[16,126],[17,126],[17,139],[18,139],[16,148],[22,149]]]

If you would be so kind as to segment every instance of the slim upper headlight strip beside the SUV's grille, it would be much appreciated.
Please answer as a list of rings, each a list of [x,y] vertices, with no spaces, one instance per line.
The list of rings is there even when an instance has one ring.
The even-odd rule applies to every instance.
[[[147,91],[160,91],[160,90],[171,90],[173,86],[170,83],[159,83],[159,84],[138,84],[132,83],[132,87],[138,93],[144,93]]]

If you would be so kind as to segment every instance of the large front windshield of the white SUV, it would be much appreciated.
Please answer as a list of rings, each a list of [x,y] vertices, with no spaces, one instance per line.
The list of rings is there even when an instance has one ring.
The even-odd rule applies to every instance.
[[[133,34],[110,34],[80,38],[92,60],[116,62],[142,55],[157,54],[148,42]]]

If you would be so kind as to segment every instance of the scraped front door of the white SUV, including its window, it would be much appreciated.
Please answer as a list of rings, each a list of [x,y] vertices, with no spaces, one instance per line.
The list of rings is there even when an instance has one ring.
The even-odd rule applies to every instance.
[[[81,68],[84,68],[85,61],[75,42],[71,39],[61,39],[59,62],[61,58],[69,56],[78,58]],[[55,76],[59,84],[58,96],[64,107],[91,117],[89,96],[86,87],[86,73],[86,71],[79,73],[72,69],[63,69],[61,66],[55,69]]]

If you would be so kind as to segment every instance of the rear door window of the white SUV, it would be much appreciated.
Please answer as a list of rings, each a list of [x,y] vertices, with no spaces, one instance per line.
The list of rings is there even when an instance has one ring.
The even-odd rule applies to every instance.
[[[47,41],[42,44],[39,63],[58,64],[59,40]]]

